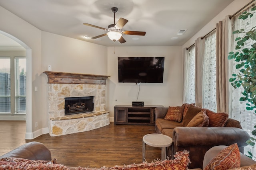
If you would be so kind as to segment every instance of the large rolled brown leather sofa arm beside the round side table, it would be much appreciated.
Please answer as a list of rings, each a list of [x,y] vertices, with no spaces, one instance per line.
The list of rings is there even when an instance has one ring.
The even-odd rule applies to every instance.
[[[246,131],[237,127],[176,127],[172,137],[172,155],[188,150],[192,162],[189,168],[202,168],[204,154],[214,146],[237,143],[243,153],[250,138]]]

